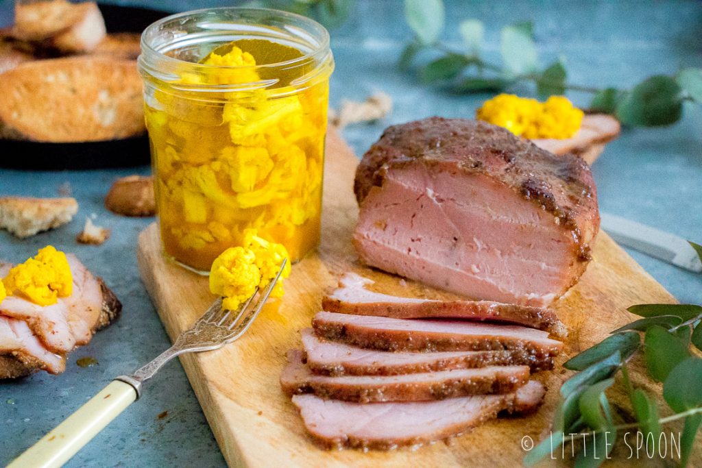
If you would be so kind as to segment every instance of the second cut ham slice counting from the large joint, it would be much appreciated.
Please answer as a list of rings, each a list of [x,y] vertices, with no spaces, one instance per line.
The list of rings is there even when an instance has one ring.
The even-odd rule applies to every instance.
[[[548,332],[516,325],[467,321],[406,320],[317,312],[312,327],[319,337],[386,351],[517,350],[548,359],[563,343]]]

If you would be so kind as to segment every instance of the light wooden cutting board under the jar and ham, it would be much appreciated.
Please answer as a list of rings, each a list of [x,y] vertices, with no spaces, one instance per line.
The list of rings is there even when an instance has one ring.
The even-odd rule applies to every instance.
[[[550,391],[536,415],[489,422],[449,443],[414,451],[362,453],[319,449],[305,433],[296,408],[282,394],[278,377],[286,362],[285,353],[292,347],[300,347],[298,330],[310,326],[310,319],[320,308],[322,292],[335,286],[336,278],[343,272],[354,270],[365,274],[388,293],[452,297],[409,282],[402,286],[397,278],[366,269],[357,262],[350,243],[358,212],[352,192],[357,161],[331,129],[326,149],[319,251],[293,266],[290,278],[285,281],[286,294],[282,300],[267,305],[239,341],[216,352],[180,358],[225,459],[231,466],[253,467],[519,466],[524,456],[520,446],[522,437],[538,441],[548,432],[558,400],[557,390],[570,374],[559,370],[560,366],[538,375]],[[578,285],[555,304],[562,321],[571,329],[558,364],[633,320],[626,307],[645,302],[675,302],[604,232],[597,238],[593,258]],[[173,339],[212,302],[207,279],[164,260],[155,224],[140,234],[138,259],[143,281]],[[660,392],[660,388],[647,383],[641,363],[633,363],[632,370],[635,382]],[[613,396],[615,407],[622,397]],[[623,401],[621,405],[628,408]],[[622,457],[629,454],[627,448],[620,451]],[[701,458],[697,454],[697,460],[691,464],[701,466]]]

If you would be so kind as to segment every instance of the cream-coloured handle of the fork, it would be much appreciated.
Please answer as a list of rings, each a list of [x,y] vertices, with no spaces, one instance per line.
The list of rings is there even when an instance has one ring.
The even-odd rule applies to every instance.
[[[112,380],[100,393],[15,458],[6,468],[60,467],[136,400],[131,385]]]

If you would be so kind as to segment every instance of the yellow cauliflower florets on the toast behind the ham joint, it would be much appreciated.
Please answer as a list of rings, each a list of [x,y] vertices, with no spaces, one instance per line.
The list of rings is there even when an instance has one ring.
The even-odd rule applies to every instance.
[[[524,138],[564,140],[580,130],[584,114],[564,96],[551,96],[546,102],[538,102],[499,94],[484,102],[476,116]]]

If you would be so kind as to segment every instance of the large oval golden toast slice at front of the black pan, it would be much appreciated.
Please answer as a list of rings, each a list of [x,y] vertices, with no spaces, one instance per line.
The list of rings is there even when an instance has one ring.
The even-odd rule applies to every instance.
[[[116,140],[146,131],[133,60],[69,57],[0,74],[0,135],[42,142]]]

